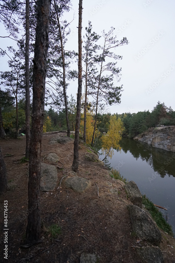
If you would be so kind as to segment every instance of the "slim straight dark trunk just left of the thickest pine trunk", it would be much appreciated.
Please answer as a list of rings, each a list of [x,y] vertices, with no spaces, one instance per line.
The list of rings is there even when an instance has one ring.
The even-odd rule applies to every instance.
[[[29,158],[30,145],[30,88],[29,88],[29,0],[26,3],[25,14],[25,131],[26,148],[25,157]]]

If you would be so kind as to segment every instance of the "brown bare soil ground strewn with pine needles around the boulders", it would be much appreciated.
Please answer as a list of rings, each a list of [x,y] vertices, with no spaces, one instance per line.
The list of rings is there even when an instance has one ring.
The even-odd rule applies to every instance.
[[[50,262],[79,263],[83,252],[94,253],[97,262],[141,263],[136,254],[137,236],[131,229],[124,190],[108,174],[100,163],[85,159],[86,146],[79,150],[79,171],[77,175],[89,178],[92,186],[83,194],[67,189],[62,180],[61,191],[57,190],[60,180],[71,171],[73,162],[73,143],[49,145],[53,134],[43,135],[41,162],[48,153],[56,153],[63,170],[58,169],[57,187],[52,192],[40,192],[41,205],[41,240],[42,243],[28,249],[24,244],[28,214],[28,163],[20,163],[24,157],[25,137],[1,140],[0,146],[8,173],[9,190],[0,195],[0,262]],[[59,164],[60,165],[60,164]],[[97,195],[97,185],[99,197]],[[118,188],[119,195],[111,194],[110,188]],[[4,200],[8,200],[8,260],[4,259]],[[61,234],[55,239],[46,231],[52,224],[61,227]],[[165,263],[175,262],[175,240],[165,232],[160,245]]]

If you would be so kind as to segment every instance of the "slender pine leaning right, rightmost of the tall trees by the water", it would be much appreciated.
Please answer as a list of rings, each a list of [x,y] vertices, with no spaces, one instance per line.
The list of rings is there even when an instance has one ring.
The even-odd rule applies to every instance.
[[[97,85],[94,86],[94,94],[96,95],[96,113],[91,146],[93,146],[94,134],[96,129],[99,100],[103,100],[109,105],[112,105],[113,103],[120,103],[120,92],[122,91],[122,85],[121,87],[115,87],[113,85],[113,76],[115,75],[116,78],[119,80],[121,68],[116,68],[116,60],[122,59],[122,57],[120,55],[116,55],[110,50],[128,44],[128,40],[126,38],[123,38],[120,41],[116,40],[116,36],[113,37],[113,31],[113,27],[108,33],[105,33],[103,31],[104,45],[103,47],[101,47],[102,53],[96,56],[96,61],[99,64],[100,69],[97,76]],[[110,61],[108,60],[109,58]],[[111,62],[111,60],[113,60],[113,62]],[[105,72],[110,72],[111,74],[105,76]]]

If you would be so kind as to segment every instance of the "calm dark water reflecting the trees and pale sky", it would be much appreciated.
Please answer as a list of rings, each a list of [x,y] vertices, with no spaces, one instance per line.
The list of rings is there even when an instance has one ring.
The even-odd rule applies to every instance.
[[[152,200],[166,215],[168,223],[175,233],[175,153],[142,144],[123,137],[121,151],[114,150],[112,159],[108,157],[110,166],[120,170],[120,174],[128,181],[134,181],[141,194]],[[101,153],[101,150],[99,150]],[[99,159],[103,160],[104,155]]]

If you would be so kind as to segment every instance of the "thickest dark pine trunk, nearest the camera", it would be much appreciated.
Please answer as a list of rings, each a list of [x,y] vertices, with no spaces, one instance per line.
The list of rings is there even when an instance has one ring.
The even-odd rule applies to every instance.
[[[47,49],[49,45],[49,17],[51,0],[39,0],[36,26],[34,69],[33,69],[33,106],[31,139],[29,148],[28,181],[28,225],[26,243],[37,241],[40,236],[40,176],[41,141],[44,121],[44,96],[46,78]]]

